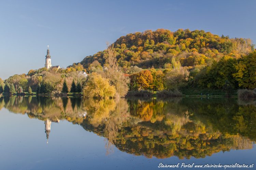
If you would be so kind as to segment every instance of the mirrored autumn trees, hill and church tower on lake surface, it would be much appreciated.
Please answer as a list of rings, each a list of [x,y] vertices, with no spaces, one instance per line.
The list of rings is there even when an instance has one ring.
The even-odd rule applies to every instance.
[[[236,99],[174,98],[86,100],[0,98],[0,109],[51,123],[67,120],[106,139],[106,154],[117,147],[148,158],[202,158],[220,151],[252,149],[256,107]],[[242,104],[241,104],[242,103]]]

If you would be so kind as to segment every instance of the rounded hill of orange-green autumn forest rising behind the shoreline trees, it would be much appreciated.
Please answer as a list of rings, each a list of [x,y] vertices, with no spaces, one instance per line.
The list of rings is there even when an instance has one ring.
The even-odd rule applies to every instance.
[[[127,34],[118,38],[114,47],[117,61],[124,70],[130,66],[141,68],[168,68],[171,58],[180,61],[188,69],[210,65],[223,56],[239,58],[254,50],[250,39],[218,36],[203,30],[179,29],[175,32],[158,29]],[[97,60],[104,64],[104,51],[86,56],[81,64],[88,69]]]

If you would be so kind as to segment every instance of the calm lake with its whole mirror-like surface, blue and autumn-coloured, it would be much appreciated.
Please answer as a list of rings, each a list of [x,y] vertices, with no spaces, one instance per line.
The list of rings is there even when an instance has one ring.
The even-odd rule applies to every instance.
[[[0,132],[1,170],[256,163],[256,102],[237,99],[2,97]]]

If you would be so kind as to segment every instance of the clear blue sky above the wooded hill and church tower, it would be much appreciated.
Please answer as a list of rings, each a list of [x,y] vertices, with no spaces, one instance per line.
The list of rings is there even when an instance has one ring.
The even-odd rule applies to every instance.
[[[256,44],[255,0],[9,0],[0,3],[0,78],[67,67],[122,35],[158,28],[205,30]]]

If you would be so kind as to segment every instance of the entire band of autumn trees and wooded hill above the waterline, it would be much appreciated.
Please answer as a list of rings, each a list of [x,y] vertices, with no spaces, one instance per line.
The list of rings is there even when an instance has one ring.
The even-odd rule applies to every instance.
[[[122,36],[106,50],[66,69],[41,68],[13,75],[0,83],[0,92],[6,84],[14,93],[18,88],[28,92],[29,87],[36,92],[39,84],[44,84],[46,89],[40,93],[83,92],[94,98],[122,98],[128,91],[128,95],[148,91],[171,96],[180,91],[185,95],[232,96],[238,89],[256,88],[255,72],[256,52],[250,39],[203,30],[158,29]],[[64,80],[66,91],[62,89]],[[96,82],[111,92],[99,90],[102,86],[95,86]],[[76,91],[77,84],[81,91]]]

